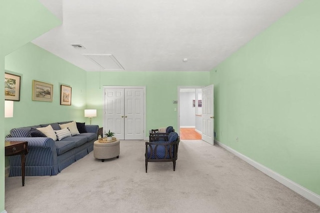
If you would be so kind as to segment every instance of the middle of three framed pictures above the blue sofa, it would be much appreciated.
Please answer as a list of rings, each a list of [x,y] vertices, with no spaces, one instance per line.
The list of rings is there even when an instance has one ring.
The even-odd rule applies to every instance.
[[[52,102],[53,85],[40,81],[32,81],[32,101]]]

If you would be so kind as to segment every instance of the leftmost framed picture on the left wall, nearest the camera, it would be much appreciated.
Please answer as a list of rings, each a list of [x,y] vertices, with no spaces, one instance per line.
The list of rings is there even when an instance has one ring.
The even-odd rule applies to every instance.
[[[18,75],[4,73],[4,99],[20,101],[20,79]]]

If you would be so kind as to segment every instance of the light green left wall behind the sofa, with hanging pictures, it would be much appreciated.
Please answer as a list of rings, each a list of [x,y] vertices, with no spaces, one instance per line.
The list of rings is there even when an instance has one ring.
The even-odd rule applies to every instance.
[[[21,76],[20,101],[13,118],[5,119],[5,133],[14,127],[76,120],[84,122],[86,72],[46,50],[27,43],[5,56],[5,72]],[[32,101],[32,80],[53,85],[52,102]],[[71,106],[60,105],[60,85],[71,87]]]

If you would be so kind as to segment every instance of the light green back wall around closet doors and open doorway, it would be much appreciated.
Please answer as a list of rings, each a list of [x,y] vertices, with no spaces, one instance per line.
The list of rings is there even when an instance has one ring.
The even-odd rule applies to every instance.
[[[103,125],[103,86],[145,86],[146,130],[161,126],[177,128],[178,86],[205,86],[209,72],[87,72],[87,106],[97,109],[92,123]]]

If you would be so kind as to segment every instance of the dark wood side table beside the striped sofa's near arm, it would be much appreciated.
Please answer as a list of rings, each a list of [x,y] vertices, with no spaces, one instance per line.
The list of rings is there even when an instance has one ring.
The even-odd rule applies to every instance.
[[[24,162],[26,154],[28,154],[27,141],[5,141],[5,156],[20,155],[21,157],[22,187],[24,186]]]

